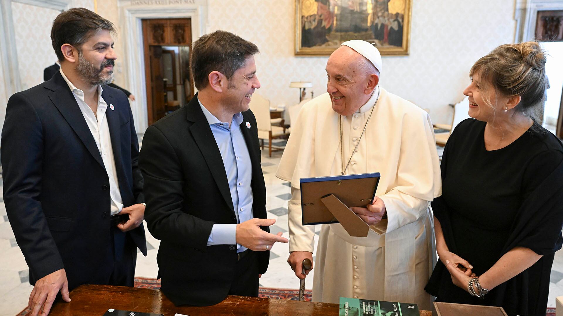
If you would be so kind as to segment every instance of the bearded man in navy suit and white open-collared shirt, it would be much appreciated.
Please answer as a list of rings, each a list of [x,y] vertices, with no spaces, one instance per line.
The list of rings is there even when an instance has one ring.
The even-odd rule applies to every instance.
[[[32,316],[82,284],[133,286],[137,247],[146,255],[133,116],[106,85],[114,31],[84,8],[62,12],[51,30],[61,69],[8,101],[4,201],[34,285]]]

